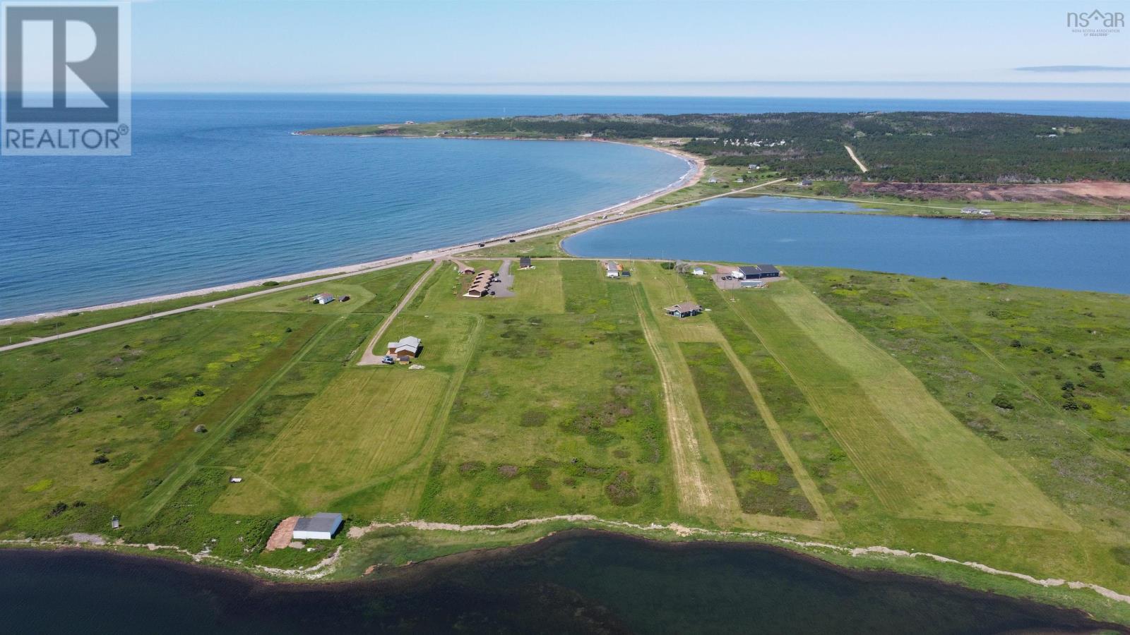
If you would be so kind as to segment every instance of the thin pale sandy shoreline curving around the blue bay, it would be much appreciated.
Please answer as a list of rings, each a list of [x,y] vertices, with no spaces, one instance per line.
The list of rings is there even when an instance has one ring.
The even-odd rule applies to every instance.
[[[292,134],[302,136],[302,134],[305,134],[305,133],[303,133],[303,132],[292,132]],[[314,134],[308,134],[308,136],[315,137]],[[340,137],[347,137],[347,136],[346,134],[341,134]],[[380,137],[380,136],[379,134],[351,134],[349,137]],[[429,137],[418,137],[418,138],[420,138],[420,139],[427,139]],[[487,137],[468,137],[467,139],[473,140],[473,139],[493,139],[493,138],[487,138]],[[255,279],[252,279],[252,280],[243,280],[243,281],[237,281],[237,282],[227,282],[227,284],[223,284],[223,285],[214,285],[211,287],[203,287],[203,288],[198,288],[198,289],[190,289],[190,290],[184,290],[184,292],[174,292],[174,293],[168,293],[168,294],[158,294],[158,295],[154,295],[154,296],[146,296],[146,297],[140,297],[140,298],[124,299],[124,301],[120,301],[120,302],[110,302],[110,303],[96,304],[96,305],[90,305],[90,306],[81,306],[81,307],[75,307],[75,308],[60,308],[60,310],[55,310],[55,311],[44,311],[44,312],[40,312],[40,313],[32,313],[32,314],[28,314],[28,315],[19,315],[19,316],[14,316],[14,318],[2,318],[2,319],[0,319],[0,327],[7,325],[7,324],[20,323],[20,322],[36,322],[38,320],[46,320],[46,319],[50,319],[50,318],[60,318],[60,316],[68,315],[70,313],[87,313],[87,312],[92,312],[92,311],[104,311],[104,310],[107,310],[107,308],[122,308],[122,307],[125,307],[125,306],[136,306],[136,305],[139,305],[139,304],[149,304],[149,303],[154,303],[154,302],[166,302],[166,301],[181,299],[181,298],[186,298],[186,297],[203,296],[203,295],[214,294],[214,293],[232,292],[232,290],[242,289],[242,288],[247,288],[247,287],[261,286],[263,282],[267,282],[269,280],[273,280],[273,281],[278,281],[278,282],[290,282],[290,281],[303,280],[303,279],[307,279],[307,278],[322,278],[322,277],[325,277],[325,276],[341,276],[341,275],[366,273],[366,272],[368,272],[371,270],[383,269],[383,268],[393,267],[393,266],[397,266],[397,264],[406,264],[408,262],[416,262],[416,261],[421,261],[421,260],[431,260],[433,258],[445,258],[447,255],[460,253],[462,251],[470,251],[470,250],[479,249],[478,247],[478,243],[490,244],[490,243],[497,243],[497,242],[502,242],[502,241],[507,241],[510,238],[532,237],[534,235],[540,235],[542,233],[550,232],[550,230],[565,229],[565,228],[567,228],[568,225],[572,225],[572,224],[575,224],[575,223],[582,223],[582,221],[585,221],[585,220],[590,220],[590,219],[599,217],[600,215],[628,211],[628,210],[634,209],[636,207],[646,205],[646,203],[649,203],[649,202],[651,202],[651,201],[653,201],[653,200],[655,200],[655,199],[658,199],[658,198],[660,198],[662,195],[669,194],[669,193],[671,193],[671,192],[673,192],[676,190],[681,190],[683,188],[687,188],[687,186],[694,185],[702,177],[703,172],[705,169],[705,165],[706,165],[705,159],[702,159],[699,157],[695,157],[694,155],[690,155],[690,154],[687,154],[687,153],[683,153],[680,150],[675,150],[675,149],[671,149],[671,148],[654,148],[654,147],[651,147],[651,146],[643,146],[643,145],[637,145],[637,143],[624,143],[621,141],[608,141],[608,140],[605,140],[605,139],[504,139],[504,138],[499,138],[499,139],[502,139],[502,140],[515,140],[515,141],[518,141],[518,140],[538,140],[538,141],[597,141],[597,142],[603,142],[603,143],[619,143],[619,145],[624,145],[624,146],[632,146],[632,147],[637,147],[637,148],[645,148],[645,149],[649,149],[649,150],[654,150],[654,151],[663,153],[663,154],[667,154],[667,155],[680,158],[680,159],[683,159],[684,162],[687,163],[687,171],[683,174],[683,176],[680,176],[679,179],[672,181],[671,183],[669,183],[669,184],[667,184],[667,185],[664,185],[662,188],[658,188],[655,190],[652,190],[651,192],[646,192],[646,193],[640,194],[638,197],[634,197],[634,198],[628,199],[626,201],[621,201],[621,202],[618,202],[618,203],[615,203],[615,205],[611,205],[611,206],[608,206],[608,207],[605,207],[605,208],[601,208],[601,209],[598,209],[598,210],[594,210],[594,211],[588,211],[588,212],[581,214],[579,216],[574,216],[572,218],[566,218],[566,219],[563,219],[563,220],[557,220],[557,221],[554,221],[554,223],[549,223],[549,224],[546,224],[546,225],[539,225],[539,226],[530,227],[530,228],[527,228],[527,229],[518,229],[518,230],[510,232],[507,234],[503,234],[503,235],[499,235],[499,236],[494,236],[494,237],[489,237],[489,238],[483,238],[483,240],[478,240],[478,241],[473,241],[473,242],[462,243],[462,244],[459,244],[459,245],[438,246],[438,247],[434,247],[434,249],[429,249],[429,250],[424,250],[424,251],[419,251],[419,252],[412,252],[412,253],[408,253],[408,254],[391,255],[391,256],[388,256],[388,258],[382,258],[382,259],[372,260],[372,261],[367,261],[367,262],[359,262],[359,263],[354,263],[354,264],[342,264],[342,266],[338,266],[338,267],[328,267],[328,268],[323,268],[323,269],[316,269],[316,270],[313,270],[313,271],[302,271],[302,272],[296,272],[296,273],[287,273],[287,275],[282,275],[282,276],[271,276],[271,277],[266,277],[266,278],[255,278]],[[278,289],[281,289],[281,288],[293,288],[293,286],[290,286],[290,287],[273,287],[273,288],[270,288],[270,289],[266,289],[266,290],[273,292],[273,290],[278,290]],[[242,297],[242,295],[241,296],[233,296],[233,297]],[[228,298],[225,298],[225,299],[228,299]],[[186,307],[186,308],[194,308],[194,307]],[[38,341],[38,340],[31,340],[31,341]]]

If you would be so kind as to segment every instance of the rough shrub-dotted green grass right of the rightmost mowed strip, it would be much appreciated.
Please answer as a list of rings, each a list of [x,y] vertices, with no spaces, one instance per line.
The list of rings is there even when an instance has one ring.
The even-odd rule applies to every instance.
[[[909,523],[899,533],[922,548],[992,558],[1012,571],[1072,572],[1114,586],[1125,580],[1130,565],[1113,554],[1130,543],[1123,485],[1130,479],[1130,451],[1119,436],[1130,411],[1107,405],[1130,402],[1123,353],[1130,333],[1120,318],[1130,311],[1130,299],[832,269],[790,271],[921,377],[966,429],[1081,527],[1069,539],[1055,531],[984,528],[974,540],[930,523]],[[1088,368],[1095,363],[1103,376]],[[1063,390],[1067,382],[1072,390]],[[1012,409],[992,405],[1000,393]],[[1094,401],[1089,409],[1063,408],[1086,400]],[[1008,548],[1000,547],[1006,542]]]

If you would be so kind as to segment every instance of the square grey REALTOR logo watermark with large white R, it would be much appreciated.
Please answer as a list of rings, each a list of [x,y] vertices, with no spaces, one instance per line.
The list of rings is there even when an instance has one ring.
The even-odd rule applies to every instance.
[[[129,2],[2,2],[0,16],[0,154],[130,154]]]

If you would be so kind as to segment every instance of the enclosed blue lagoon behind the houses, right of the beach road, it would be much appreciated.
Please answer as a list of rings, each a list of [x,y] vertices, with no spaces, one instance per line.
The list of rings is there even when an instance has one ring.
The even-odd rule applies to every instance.
[[[671,258],[843,267],[931,278],[1130,294],[1130,223],[907,218],[855,203],[714,199],[565,240],[585,258]]]

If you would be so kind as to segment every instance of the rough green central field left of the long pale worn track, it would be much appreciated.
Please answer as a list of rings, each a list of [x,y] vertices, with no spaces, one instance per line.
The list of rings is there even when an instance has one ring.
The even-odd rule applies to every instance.
[[[563,289],[588,287],[586,280],[599,281],[597,273],[593,262],[538,261],[516,273],[518,297],[471,301],[487,312],[484,332],[432,464],[420,516],[670,516],[657,371],[631,289],[570,294],[570,313],[560,302]],[[523,298],[523,289],[548,289],[549,301]],[[434,310],[432,299],[429,293],[418,311]],[[444,296],[452,310],[468,306],[459,301]]]

